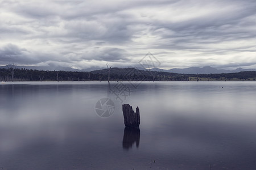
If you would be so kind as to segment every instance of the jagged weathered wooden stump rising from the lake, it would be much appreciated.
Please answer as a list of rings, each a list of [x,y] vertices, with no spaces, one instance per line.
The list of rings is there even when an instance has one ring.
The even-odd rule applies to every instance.
[[[136,112],[134,112],[130,104],[123,104],[123,118],[125,119],[126,127],[139,128],[139,124],[141,123],[139,107],[137,107]]]

